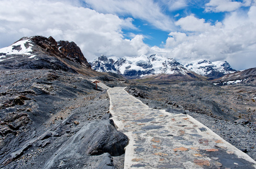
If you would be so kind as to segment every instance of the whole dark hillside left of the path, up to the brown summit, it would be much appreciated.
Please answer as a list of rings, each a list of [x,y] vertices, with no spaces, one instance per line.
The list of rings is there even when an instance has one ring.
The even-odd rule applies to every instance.
[[[32,48],[28,54],[1,54],[0,166],[120,165],[128,139],[109,119],[106,91],[96,89],[89,78],[125,79],[92,70],[73,42],[38,36],[20,41],[24,39],[29,39],[25,48]],[[12,51],[24,46],[12,45]]]

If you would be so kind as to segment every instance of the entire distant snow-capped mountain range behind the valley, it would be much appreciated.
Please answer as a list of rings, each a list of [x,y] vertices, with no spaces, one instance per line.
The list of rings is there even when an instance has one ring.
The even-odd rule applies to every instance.
[[[109,57],[104,55],[94,60],[92,69],[98,72],[113,72],[123,74],[128,78],[143,78],[147,75],[180,75],[198,78],[198,75],[208,79],[216,79],[225,74],[236,72],[227,61],[210,62],[197,60],[182,65],[173,58],[160,55],[141,55],[137,57]]]

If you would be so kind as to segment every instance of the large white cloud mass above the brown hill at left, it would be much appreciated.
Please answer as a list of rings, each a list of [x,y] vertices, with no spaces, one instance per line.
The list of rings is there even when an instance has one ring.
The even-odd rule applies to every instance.
[[[23,36],[53,36],[57,41],[73,41],[87,59],[105,55],[140,55],[147,53],[141,35],[124,39],[123,28],[137,29],[133,19],[73,5],[68,1],[0,1],[0,47]]]

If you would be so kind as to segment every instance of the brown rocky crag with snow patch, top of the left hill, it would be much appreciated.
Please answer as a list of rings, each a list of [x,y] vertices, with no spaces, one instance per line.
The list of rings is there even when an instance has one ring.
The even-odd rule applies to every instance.
[[[0,49],[0,61],[15,57],[36,60],[41,55],[55,56],[83,64],[90,68],[80,48],[74,42],[56,42],[53,37],[23,37],[12,45]]]

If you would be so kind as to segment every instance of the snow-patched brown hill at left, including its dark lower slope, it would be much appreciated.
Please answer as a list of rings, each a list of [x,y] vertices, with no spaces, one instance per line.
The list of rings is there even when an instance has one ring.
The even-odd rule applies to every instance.
[[[0,69],[54,69],[75,72],[74,69],[79,66],[90,69],[90,64],[80,48],[74,42],[57,42],[53,37],[23,37],[0,49]]]

